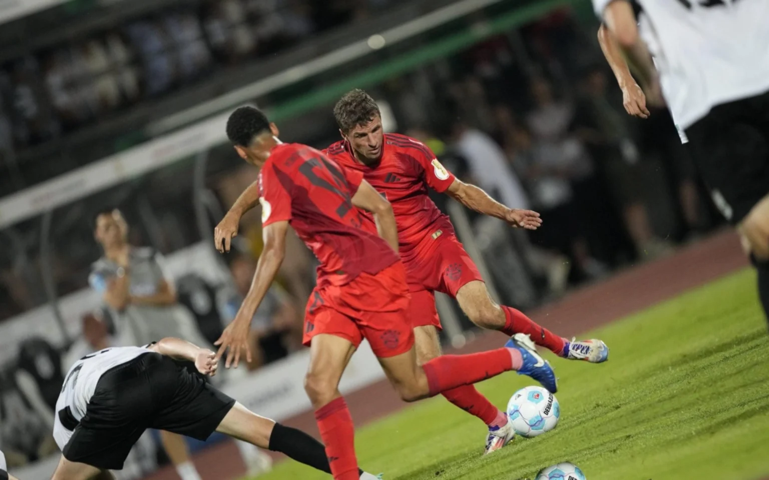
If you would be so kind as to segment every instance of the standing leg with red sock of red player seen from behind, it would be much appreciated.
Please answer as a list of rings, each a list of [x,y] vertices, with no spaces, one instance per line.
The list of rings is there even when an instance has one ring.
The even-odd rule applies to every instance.
[[[310,365],[305,376],[305,391],[315,409],[315,420],[335,480],[358,480],[355,427],[338,388],[353,353],[355,346],[348,339],[318,334],[312,338]]]

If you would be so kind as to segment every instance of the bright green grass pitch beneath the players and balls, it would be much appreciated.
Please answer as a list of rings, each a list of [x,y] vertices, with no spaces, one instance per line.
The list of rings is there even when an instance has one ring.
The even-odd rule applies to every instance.
[[[591,336],[602,365],[551,358],[561,422],[481,456],[485,428],[442,398],[358,430],[358,461],[385,480],[517,480],[570,461],[589,480],[755,480],[769,476],[769,337],[750,271],[728,276]],[[533,382],[478,385],[497,406]],[[329,475],[284,462],[260,480]]]

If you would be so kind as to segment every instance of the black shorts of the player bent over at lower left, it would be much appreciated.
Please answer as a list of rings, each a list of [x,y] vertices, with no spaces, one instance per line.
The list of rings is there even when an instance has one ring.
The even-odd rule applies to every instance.
[[[62,452],[71,462],[120,470],[146,429],[205,440],[235,400],[159,353],[108,370]],[[66,426],[66,425],[65,425]]]

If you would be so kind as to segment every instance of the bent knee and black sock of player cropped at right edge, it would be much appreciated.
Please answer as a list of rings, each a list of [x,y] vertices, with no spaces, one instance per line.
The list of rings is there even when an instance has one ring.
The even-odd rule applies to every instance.
[[[769,195],[761,199],[737,227],[758,273],[758,296],[769,319]]]

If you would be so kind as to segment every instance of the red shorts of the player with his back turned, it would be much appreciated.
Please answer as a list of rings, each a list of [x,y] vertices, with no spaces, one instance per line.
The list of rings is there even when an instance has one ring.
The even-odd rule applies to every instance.
[[[380,358],[400,355],[414,345],[409,303],[401,262],[375,275],[362,273],[345,285],[315,287],[305,310],[302,342],[309,346],[313,336],[328,333],[348,339],[356,348],[365,338]]]

